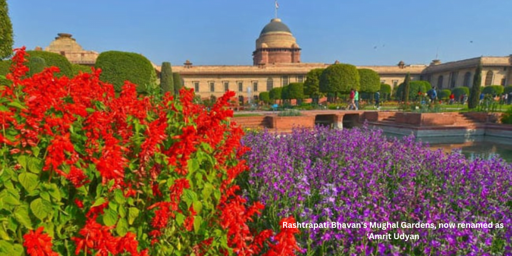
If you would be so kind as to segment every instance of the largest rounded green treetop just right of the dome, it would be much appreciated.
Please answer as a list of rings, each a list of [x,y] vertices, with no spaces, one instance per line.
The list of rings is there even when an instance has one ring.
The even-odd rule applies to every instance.
[[[349,93],[352,88],[360,89],[359,72],[356,66],[333,64],[320,76],[320,92]]]

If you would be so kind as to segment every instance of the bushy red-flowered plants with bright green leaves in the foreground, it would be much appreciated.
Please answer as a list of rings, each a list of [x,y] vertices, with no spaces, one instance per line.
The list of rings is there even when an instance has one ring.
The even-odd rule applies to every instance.
[[[127,82],[116,97],[99,70],[68,79],[52,67],[23,78],[24,56],[15,54],[12,86],[0,89],[1,255],[292,255],[298,248],[296,228],[249,230],[264,206],[247,204],[234,185],[247,148],[229,122],[233,92],[211,111],[192,102],[192,90],[155,101]]]

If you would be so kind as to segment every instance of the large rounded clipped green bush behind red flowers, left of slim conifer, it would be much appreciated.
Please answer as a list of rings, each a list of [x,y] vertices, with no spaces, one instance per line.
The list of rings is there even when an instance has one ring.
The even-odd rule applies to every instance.
[[[120,51],[103,52],[96,59],[96,68],[102,69],[100,79],[112,83],[120,92],[125,81],[137,85],[137,92],[145,93],[154,79],[151,62],[141,54]]]

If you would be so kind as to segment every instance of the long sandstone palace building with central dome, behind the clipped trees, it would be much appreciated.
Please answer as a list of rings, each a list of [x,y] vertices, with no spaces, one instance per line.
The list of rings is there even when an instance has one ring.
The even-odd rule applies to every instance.
[[[46,51],[66,56],[72,63],[93,65],[98,53],[80,47],[70,34],[60,33]],[[260,32],[252,52],[252,66],[194,66],[187,60],[183,66],[173,66],[180,73],[183,84],[192,88],[202,98],[220,97],[227,90],[239,98],[257,98],[261,92],[283,87],[291,82],[304,82],[306,74],[317,68],[327,68],[332,63],[303,63],[302,49],[291,30],[281,19],[270,20]],[[336,61],[338,62],[338,61]],[[426,80],[438,89],[470,87],[475,71],[482,63],[482,86],[512,84],[512,55],[503,57],[482,56],[441,63],[433,60],[429,65],[407,65],[400,61],[395,66],[358,66],[371,69],[381,78],[381,83],[396,87],[407,73],[412,80]],[[161,67],[155,66],[157,72]]]

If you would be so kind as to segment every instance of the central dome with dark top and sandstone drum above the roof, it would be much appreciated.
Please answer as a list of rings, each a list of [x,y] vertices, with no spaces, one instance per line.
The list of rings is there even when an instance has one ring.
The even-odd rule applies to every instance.
[[[252,53],[253,65],[267,63],[299,63],[301,48],[281,19],[273,18],[256,40],[256,50]]]

